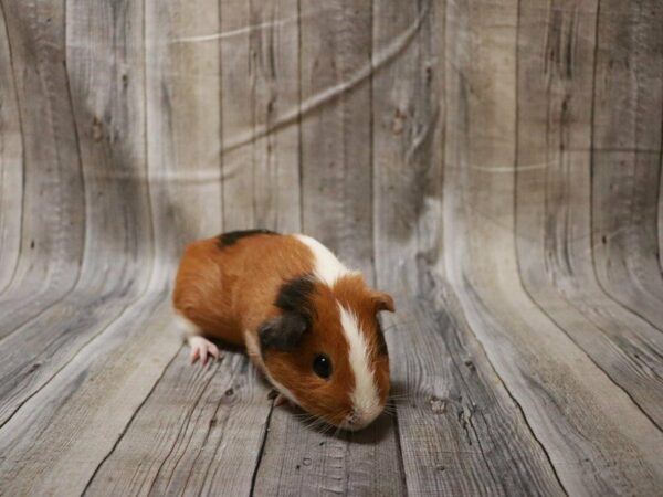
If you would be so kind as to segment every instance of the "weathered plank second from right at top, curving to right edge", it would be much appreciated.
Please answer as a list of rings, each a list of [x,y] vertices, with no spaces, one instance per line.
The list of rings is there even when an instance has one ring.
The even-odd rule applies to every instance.
[[[552,22],[546,21],[544,4],[520,9],[518,53],[529,63],[520,65],[518,85],[519,269],[541,310],[663,426],[663,379],[657,371],[663,335],[606,295],[592,264],[597,243],[590,235],[587,123],[592,114],[597,11],[593,1],[575,8],[575,2],[557,6]],[[546,61],[555,63],[538,59],[534,47],[543,40],[548,41]],[[569,43],[572,51],[565,49]],[[547,104],[526,104],[533,101]],[[596,165],[594,177],[604,169]],[[628,194],[619,199],[630,202]]]

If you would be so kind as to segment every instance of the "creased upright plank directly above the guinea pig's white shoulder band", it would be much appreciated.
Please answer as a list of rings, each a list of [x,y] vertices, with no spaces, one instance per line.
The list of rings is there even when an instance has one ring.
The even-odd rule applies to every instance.
[[[371,7],[301,8],[302,107],[319,102],[302,116],[303,229],[371,281],[371,92],[370,78],[356,77],[371,64]]]

